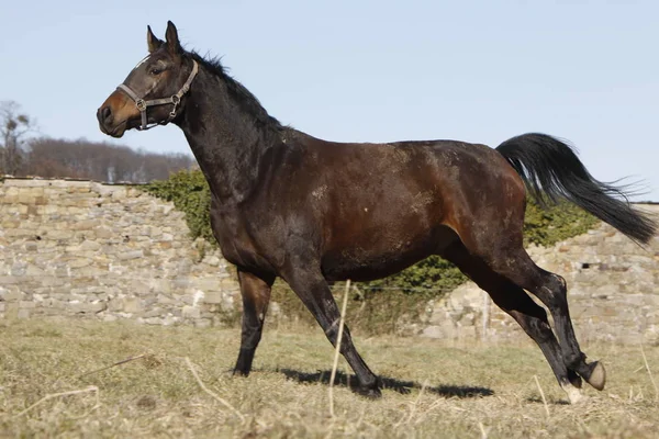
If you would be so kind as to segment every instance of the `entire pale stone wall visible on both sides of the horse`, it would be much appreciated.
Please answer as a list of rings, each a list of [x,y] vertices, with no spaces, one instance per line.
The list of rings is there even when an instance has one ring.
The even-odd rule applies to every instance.
[[[659,205],[644,205],[659,214]],[[131,318],[222,325],[239,312],[233,268],[189,237],[183,214],[139,188],[76,180],[0,182],[0,319]],[[534,260],[568,282],[580,339],[659,342],[659,238],[647,249],[602,225]],[[416,331],[526,338],[467,283],[432,303]]]

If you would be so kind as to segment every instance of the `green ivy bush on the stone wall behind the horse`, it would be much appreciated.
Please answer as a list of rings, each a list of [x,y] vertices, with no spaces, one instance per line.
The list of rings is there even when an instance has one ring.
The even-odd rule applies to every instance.
[[[216,241],[210,225],[210,189],[201,171],[179,171],[168,180],[155,181],[146,190],[186,213],[192,238],[203,237],[212,246]],[[551,246],[585,233],[597,219],[568,203],[541,209],[528,201],[524,223],[525,244]],[[395,331],[401,317],[416,319],[428,300],[440,299],[467,280],[450,262],[429,257],[386,279],[357,284],[361,292],[353,294],[348,315],[353,327],[368,333]],[[340,293],[340,288],[336,289]],[[311,322],[300,300],[281,282],[276,284],[272,300],[284,315],[297,315]]]

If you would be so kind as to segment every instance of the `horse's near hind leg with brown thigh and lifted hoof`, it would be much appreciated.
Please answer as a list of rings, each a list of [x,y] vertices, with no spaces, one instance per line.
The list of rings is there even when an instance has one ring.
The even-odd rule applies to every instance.
[[[469,254],[547,306],[566,367],[602,390],[606,380],[604,368],[596,361],[587,363],[579,348],[565,280],[536,266],[524,249],[526,191],[520,176],[510,166],[490,167],[480,176],[478,185],[466,185],[456,200],[445,224],[458,234]]]

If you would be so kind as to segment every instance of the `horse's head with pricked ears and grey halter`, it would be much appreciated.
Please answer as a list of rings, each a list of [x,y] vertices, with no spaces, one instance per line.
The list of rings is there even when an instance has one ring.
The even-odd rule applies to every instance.
[[[148,130],[171,122],[197,75],[197,61],[183,56],[174,23],[167,23],[165,42],[147,27],[146,43],[146,58],[97,112],[101,131],[113,137],[123,136],[126,130]]]

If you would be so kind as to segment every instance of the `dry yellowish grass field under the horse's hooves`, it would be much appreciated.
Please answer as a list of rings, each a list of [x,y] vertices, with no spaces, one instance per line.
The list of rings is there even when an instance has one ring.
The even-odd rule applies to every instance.
[[[638,346],[585,346],[608,384],[570,406],[530,341],[355,338],[388,389],[379,401],[351,393],[342,360],[330,417],[334,352],[315,327],[267,329],[241,379],[230,373],[238,329],[0,323],[0,437],[659,437],[659,395]],[[645,353],[659,375],[659,348]]]

